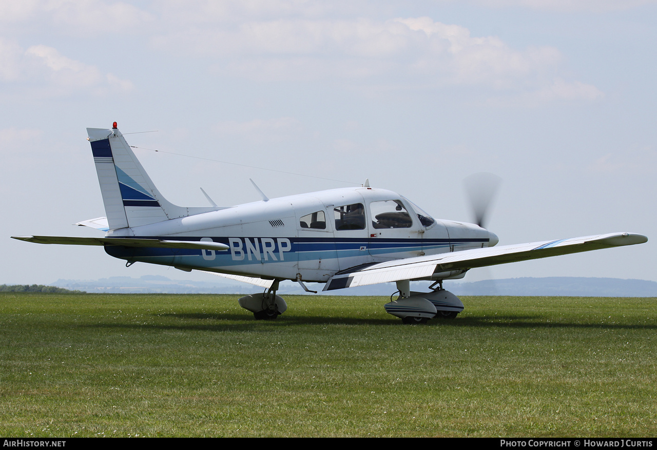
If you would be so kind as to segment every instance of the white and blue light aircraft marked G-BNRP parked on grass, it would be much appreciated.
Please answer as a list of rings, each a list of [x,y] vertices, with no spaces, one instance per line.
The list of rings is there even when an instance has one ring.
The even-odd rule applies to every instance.
[[[463,303],[443,289],[474,267],[647,242],[610,233],[495,246],[479,224],[434,219],[392,191],[363,187],[267,198],[237,206],[185,208],[168,202],[148,177],[114,122],[87,128],[107,217],[83,221],[104,237],[12,236],[40,244],[103,246],[126,266],[137,261],[220,274],[263,288],[239,299],[256,319],[287,309],[276,295],[283,280],[324,282],[324,290],[396,282],[385,304],[404,323],[454,318]],[[208,200],[210,198],[208,197]],[[432,281],[411,292],[411,281]],[[314,292],[314,291],[309,291]]]

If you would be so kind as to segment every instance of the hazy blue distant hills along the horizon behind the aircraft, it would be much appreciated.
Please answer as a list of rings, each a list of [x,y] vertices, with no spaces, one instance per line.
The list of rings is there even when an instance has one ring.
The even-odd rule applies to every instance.
[[[426,282],[413,283],[413,290],[426,290]],[[109,277],[99,280],[57,280],[59,288],[108,293],[171,294],[253,294],[262,289],[229,279],[208,281],[171,280],[159,275],[140,278]],[[309,283],[309,289],[321,292],[323,284]],[[583,297],[657,297],[657,282],[616,278],[545,277],[512,278],[475,282],[446,281],[445,289],[458,296],[583,296]],[[375,284],[328,292],[329,295],[390,296],[397,290],[394,283]],[[281,283],[279,294],[306,294],[296,282]]]

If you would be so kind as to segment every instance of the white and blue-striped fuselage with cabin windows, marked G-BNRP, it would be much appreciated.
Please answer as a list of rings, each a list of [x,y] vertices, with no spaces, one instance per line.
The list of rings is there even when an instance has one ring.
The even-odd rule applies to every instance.
[[[384,189],[309,192],[107,234],[211,240],[229,250],[110,246],[106,251],[180,269],[326,282],[358,265],[497,244],[497,236],[478,225],[434,220],[414,206]]]

